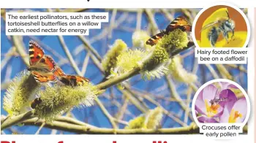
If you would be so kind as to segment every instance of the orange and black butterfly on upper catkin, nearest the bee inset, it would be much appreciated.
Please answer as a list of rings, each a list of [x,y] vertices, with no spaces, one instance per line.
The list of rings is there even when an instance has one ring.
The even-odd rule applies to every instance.
[[[156,34],[152,36],[148,41],[146,41],[146,45],[151,45],[154,46],[157,44],[159,39],[162,39],[162,36],[165,34],[169,34],[170,31],[175,30],[176,28],[180,28],[182,31],[187,31],[191,32],[192,31],[192,26],[189,23],[189,20],[187,20],[186,17],[184,16],[179,16],[175,20],[173,20],[167,28],[165,28],[165,31],[161,31],[159,34]]]

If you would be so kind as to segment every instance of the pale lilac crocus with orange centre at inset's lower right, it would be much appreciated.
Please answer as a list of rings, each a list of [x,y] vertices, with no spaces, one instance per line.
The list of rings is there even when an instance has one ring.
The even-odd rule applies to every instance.
[[[227,103],[227,104],[232,104]],[[229,110],[228,106],[225,107],[222,116],[219,118],[220,123],[243,123],[247,113],[246,98],[240,98],[233,104]]]

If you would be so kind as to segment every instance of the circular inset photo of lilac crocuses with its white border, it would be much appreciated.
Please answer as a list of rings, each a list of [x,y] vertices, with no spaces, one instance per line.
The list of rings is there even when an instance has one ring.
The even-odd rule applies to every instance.
[[[211,80],[193,99],[192,114],[196,123],[246,123],[249,118],[246,91],[230,80]]]

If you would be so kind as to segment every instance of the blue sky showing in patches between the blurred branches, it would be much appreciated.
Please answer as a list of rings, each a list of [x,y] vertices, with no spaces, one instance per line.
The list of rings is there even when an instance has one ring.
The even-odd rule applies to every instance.
[[[8,9],[13,10],[13,9]],[[15,9],[17,10],[17,9]],[[31,9],[35,11],[45,11],[45,9]],[[190,9],[198,10],[198,9]],[[176,18],[179,15],[183,15],[180,10],[176,10],[179,12],[172,12],[170,13],[174,18]],[[105,9],[89,9],[86,12],[109,12],[109,19],[111,18],[112,10],[105,10]],[[124,16],[127,15],[125,18]],[[112,37],[107,38],[108,36],[105,36],[103,39],[99,39],[91,45],[97,50],[99,55],[102,57],[105,55],[105,53],[108,51],[109,46],[112,45],[113,42],[116,39],[122,39],[124,42],[127,43],[128,47],[132,47],[132,32],[135,30],[136,27],[136,12],[121,12],[118,11],[116,15],[116,20],[120,20],[121,18],[124,18],[124,20],[121,22],[121,25],[117,28],[113,29],[112,31]],[[170,20],[168,20],[165,15],[163,15],[160,12],[157,12],[155,15],[155,19],[158,21],[157,24],[160,29],[164,29],[167,24],[170,23]],[[94,39],[95,36],[102,34],[101,32],[108,28],[110,23],[102,23],[102,29],[91,29],[90,35],[85,36],[89,41],[91,39]],[[148,18],[146,18],[146,14],[143,13],[142,21],[141,21],[141,29],[146,30],[148,28]],[[44,45],[42,47],[45,50],[45,54],[51,55],[57,63],[62,63],[59,60],[59,56],[66,58],[66,55],[64,53],[64,50],[62,49],[59,39],[57,36],[32,36],[36,37],[41,41]],[[26,51],[29,53],[29,40],[31,39],[31,36],[23,36],[23,43],[26,45]],[[78,67],[82,69],[83,61],[86,56],[86,50],[82,48],[79,53],[75,53],[78,50],[78,47],[83,47],[83,43],[80,41],[78,36],[64,36],[64,40],[67,44],[67,47],[69,48],[69,51],[72,53],[73,58],[75,58],[75,62],[78,64]],[[59,56],[53,55],[48,48],[45,48],[45,46],[48,46],[48,48],[51,48],[53,51],[58,53]],[[1,18],[1,62],[5,58],[5,53],[7,53],[10,50],[10,47],[12,47],[12,43],[5,35],[5,22],[3,18]],[[187,50],[182,54],[189,53],[191,50]],[[189,55],[187,58],[184,58],[184,68],[188,71],[192,71],[192,68],[194,66],[195,62],[195,56],[194,54]],[[11,73],[8,71],[10,69],[10,66],[12,66]],[[211,65],[219,74],[219,71],[217,70],[216,66]],[[246,65],[244,65],[244,68],[246,69]],[[23,63],[20,57],[13,56],[10,58],[10,61],[8,61],[7,65],[1,68],[1,83],[8,82],[10,79],[15,77],[16,74],[18,74],[20,71],[23,71],[26,69],[26,65]],[[72,66],[70,66],[69,63],[61,64],[61,69],[64,70],[67,74],[75,74],[75,71],[72,69]],[[230,74],[235,77],[234,81],[238,82],[245,90],[247,89],[247,74],[244,72],[240,72],[238,69],[229,68]],[[8,75],[10,74],[10,77]],[[197,86],[200,87],[200,85],[203,85],[203,83],[208,82],[209,80],[213,80],[214,77],[211,75],[211,73],[208,71],[208,68],[205,65],[198,66],[197,69],[197,76],[198,76],[198,83]],[[97,84],[100,82],[103,78],[103,75],[97,69],[97,66],[94,65],[94,63],[90,60],[89,66],[86,70],[85,77],[89,78],[91,82],[94,84]],[[221,77],[219,75],[219,77]],[[157,80],[151,80],[151,81],[143,81],[140,80],[140,75],[133,77],[131,82],[135,82],[134,85],[132,85],[132,89],[140,90],[140,91],[146,91],[148,93],[153,94],[156,98],[155,100],[158,101],[162,107],[165,109],[176,113],[176,115],[181,119],[184,120],[184,111],[181,109],[180,105],[173,101],[164,101],[162,99],[159,99],[157,97],[164,96],[166,98],[170,97],[170,92],[167,88],[167,85],[165,83],[165,78],[157,79]],[[186,99],[187,98],[187,88],[188,86],[186,84],[176,82],[176,90],[178,91],[181,98]],[[3,96],[6,90],[1,90],[1,115],[7,115],[7,112],[4,111],[2,108],[2,101]],[[107,94],[110,93],[110,90],[107,90]],[[123,104],[123,96],[120,93],[120,91],[116,90],[116,88],[113,88],[113,93],[115,94],[115,101],[118,101],[119,104]],[[194,93],[192,93],[192,96]],[[115,115],[116,112],[118,112],[118,107],[112,104],[111,99],[105,98],[104,96],[99,96],[100,100],[105,104],[105,107],[108,109],[108,112],[110,112],[111,115]],[[144,100],[145,103],[148,105],[150,109],[154,109],[154,105],[151,104],[151,102]],[[141,114],[140,110],[138,110],[134,105],[129,104],[129,112],[132,112],[133,115],[138,116]],[[78,120],[81,120],[83,122],[89,123],[91,125],[96,125],[98,127],[102,128],[112,128],[111,124],[108,122],[108,119],[105,117],[105,115],[102,114],[101,110],[95,104],[93,107],[81,107],[81,108],[75,108],[73,109],[72,113],[75,115],[75,117]],[[131,115],[124,115],[123,120],[129,121],[133,117]],[[189,125],[192,122],[192,120],[188,120],[187,124]],[[163,117],[162,127],[163,128],[173,128],[173,127],[180,127],[178,123],[176,123],[174,120],[170,119],[170,117]],[[124,128],[124,125],[119,124],[119,128]],[[4,130],[5,134],[11,134],[13,130],[16,130],[22,134],[35,134],[38,127],[34,126],[14,126],[12,129],[6,129]],[[42,131],[40,131],[40,134],[50,134],[51,130],[48,128],[43,128]],[[68,132],[62,132],[58,131],[57,134],[72,134]]]

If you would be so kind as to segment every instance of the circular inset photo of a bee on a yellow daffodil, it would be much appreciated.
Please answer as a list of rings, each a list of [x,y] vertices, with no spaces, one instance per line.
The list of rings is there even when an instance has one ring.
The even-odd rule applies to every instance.
[[[197,47],[246,47],[249,42],[249,21],[246,9],[229,4],[202,9],[192,26]]]

